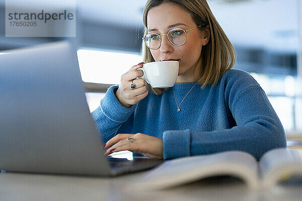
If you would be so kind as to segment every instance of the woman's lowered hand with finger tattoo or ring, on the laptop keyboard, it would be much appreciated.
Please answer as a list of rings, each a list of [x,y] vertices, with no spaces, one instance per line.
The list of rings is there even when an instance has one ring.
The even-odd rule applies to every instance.
[[[163,158],[163,140],[142,133],[118,134],[104,144],[103,148],[108,148],[105,155],[128,150],[150,158]]]

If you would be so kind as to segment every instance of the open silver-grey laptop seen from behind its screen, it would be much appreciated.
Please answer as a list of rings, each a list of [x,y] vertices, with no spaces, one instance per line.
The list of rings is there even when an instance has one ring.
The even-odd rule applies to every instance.
[[[14,50],[0,64],[0,169],[115,176],[163,162],[104,156],[68,42]]]

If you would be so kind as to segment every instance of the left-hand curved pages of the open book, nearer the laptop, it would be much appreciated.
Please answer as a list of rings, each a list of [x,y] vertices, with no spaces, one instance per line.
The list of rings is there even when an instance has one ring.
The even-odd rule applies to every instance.
[[[138,187],[162,189],[206,177],[230,175],[243,179],[254,188],[258,184],[257,165],[251,154],[242,151],[182,157],[167,160],[146,172]]]

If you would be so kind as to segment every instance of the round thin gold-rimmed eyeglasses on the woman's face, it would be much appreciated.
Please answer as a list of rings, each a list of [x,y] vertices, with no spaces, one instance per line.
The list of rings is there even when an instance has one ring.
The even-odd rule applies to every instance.
[[[198,27],[201,27],[198,26]],[[192,29],[196,29],[198,27],[194,27]],[[141,38],[146,46],[150,49],[157,50],[161,47],[162,44],[162,35],[167,35],[170,43],[175,46],[181,46],[185,44],[187,40],[186,33],[192,29],[183,30],[180,28],[172,29],[167,34],[157,34],[157,33],[149,33],[146,34],[143,38]]]

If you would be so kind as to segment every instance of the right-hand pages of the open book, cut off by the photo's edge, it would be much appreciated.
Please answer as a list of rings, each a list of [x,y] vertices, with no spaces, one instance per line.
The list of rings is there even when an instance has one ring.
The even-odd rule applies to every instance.
[[[278,148],[265,153],[259,162],[264,187],[292,176],[302,178],[302,150]]]

